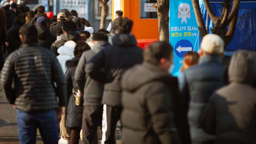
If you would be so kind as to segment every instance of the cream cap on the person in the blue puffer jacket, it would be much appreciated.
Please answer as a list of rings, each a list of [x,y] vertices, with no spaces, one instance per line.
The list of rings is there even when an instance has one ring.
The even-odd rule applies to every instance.
[[[222,54],[224,51],[224,41],[217,34],[206,34],[200,48],[208,54]]]

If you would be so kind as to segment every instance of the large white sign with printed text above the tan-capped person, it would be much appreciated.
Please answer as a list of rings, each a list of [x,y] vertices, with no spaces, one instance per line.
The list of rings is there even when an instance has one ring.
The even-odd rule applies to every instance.
[[[76,10],[78,17],[88,20],[88,0],[60,0],[60,10]]]

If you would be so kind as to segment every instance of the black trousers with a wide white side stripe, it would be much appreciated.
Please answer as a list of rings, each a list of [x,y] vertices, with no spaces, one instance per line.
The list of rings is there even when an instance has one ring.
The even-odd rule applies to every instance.
[[[122,107],[104,104],[102,118],[102,144],[116,144],[116,123],[120,119]]]

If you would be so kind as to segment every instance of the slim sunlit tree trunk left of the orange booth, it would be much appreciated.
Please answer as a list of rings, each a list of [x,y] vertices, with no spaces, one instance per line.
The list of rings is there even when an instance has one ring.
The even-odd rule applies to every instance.
[[[106,19],[108,16],[108,1],[109,0],[98,0],[98,2],[101,4],[100,29],[106,29]]]

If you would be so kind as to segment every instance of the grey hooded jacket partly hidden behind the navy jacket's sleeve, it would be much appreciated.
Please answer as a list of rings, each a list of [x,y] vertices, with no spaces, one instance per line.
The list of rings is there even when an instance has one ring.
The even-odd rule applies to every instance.
[[[75,80],[78,89],[82,93],[84,93],[84,106],[102,105],[104,84],[90,78],[90,76],[84,71],[84,69],[86,62],[88,62],[104,47],[109,45],[110,43],[105,41],[97,42],[91,50],[87,50],[86,52],[84,52],[79,60],[78,67],[76,69]],[[104,68],[102,71],[104,72]]]

